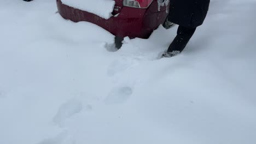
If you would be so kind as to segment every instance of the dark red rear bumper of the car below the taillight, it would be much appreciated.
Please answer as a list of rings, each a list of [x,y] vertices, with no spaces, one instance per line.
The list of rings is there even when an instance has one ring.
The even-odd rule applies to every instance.
[[[59,13],[64,19],[74,22],[88,21],[106,29],[118,37],[148,38],[153,30],[164,22],[167,15],[161,15],[161,20],[158,22],[153,17],[159,17],[161,12],[154,13],[153,11],[148,14],[150,9],[123,7],[117,16],[112,16],[106,20],[87,11],[62,4],[61,0],[56,1]]]

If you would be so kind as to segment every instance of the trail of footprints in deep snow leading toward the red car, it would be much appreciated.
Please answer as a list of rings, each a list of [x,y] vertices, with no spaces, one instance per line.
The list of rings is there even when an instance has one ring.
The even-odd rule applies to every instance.
[[[115,76],[119,73],[122,73],[126,69],[131,67],[131,63],[127,61],[123,62],[113,62],[109,65],[107,70],[108,76]],[[130,86],[118,86],[113,87],[110,92],[103,99],[103,103],[106,105],[114,104],[123,104],[127,99],[132,95],[132,88]],[[53,117],[53,122],[59,127],[63,127],[62,123],[65,122],[67,118],[78,114],[82,110],[92,110],[91,105],[83,105],[81,100],[71,99],[60,105],[59,110],[57,110],[56,115]],[[75,141],[72,141],[71,136],[68,135],[68,131],[63,131],[56,136],[44,139],[37,144],[75,144]]]

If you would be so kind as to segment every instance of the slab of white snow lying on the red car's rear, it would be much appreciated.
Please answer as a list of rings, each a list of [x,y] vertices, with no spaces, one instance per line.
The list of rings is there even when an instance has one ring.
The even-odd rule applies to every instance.
[[[113,0],[61,0],[61,2],[70,7],[96,14],[104,19],[109,19],[112,16],[111,13],[115,6]]]

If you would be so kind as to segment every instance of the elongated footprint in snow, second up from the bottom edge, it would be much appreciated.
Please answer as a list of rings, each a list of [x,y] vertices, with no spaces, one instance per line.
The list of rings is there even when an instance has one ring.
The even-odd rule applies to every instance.
[[[66,118],[79,113],[83,109],[83,105],[81,101],[77,99],[68,100],[66,103],[62,104],[57,112],[57,114],[53,118],[53,122],[56,124],[60,124]]]

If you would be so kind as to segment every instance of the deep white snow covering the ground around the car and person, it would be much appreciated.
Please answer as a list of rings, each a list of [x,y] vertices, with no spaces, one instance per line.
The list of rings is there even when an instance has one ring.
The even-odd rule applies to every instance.
[[[54,0],[0,0],[1,144],[256,143],[256,1],[212,0],[179,56],[177,27],[114,36],[56,14]]]

